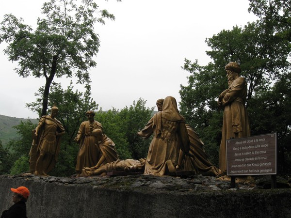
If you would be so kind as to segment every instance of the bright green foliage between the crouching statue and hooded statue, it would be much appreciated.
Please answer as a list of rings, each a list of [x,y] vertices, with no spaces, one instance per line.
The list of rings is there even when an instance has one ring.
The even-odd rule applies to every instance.
[[[104,133],[114,141],[120,159],[147,156],[150,139],[143,140],[136,136],[151,118],[154,109],[146,108],[145,104],[146,101],[140,98],[120,111],[97,112],[97,120],[102,124]]]

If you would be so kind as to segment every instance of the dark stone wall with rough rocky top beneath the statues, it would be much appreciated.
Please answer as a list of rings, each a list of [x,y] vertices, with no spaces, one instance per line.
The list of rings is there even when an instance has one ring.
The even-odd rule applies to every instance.
[[[117,176],[41,178],[0,176],[0,211],[10,187],[31,191],[29,218],[290,218],[291,189],[223,189],[211,177]]]

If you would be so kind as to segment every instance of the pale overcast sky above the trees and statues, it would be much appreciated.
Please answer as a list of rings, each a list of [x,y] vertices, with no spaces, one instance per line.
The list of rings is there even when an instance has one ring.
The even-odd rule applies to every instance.
[[[44,0],[1,1],[0,21],[5,14],[22,17],[35,27]],[[123,109],[143,98],[146,107],[172,95],[180,101],[180,84],[187,85],[189,74],[181,69],[184,59],[206,65],[210,50],[206,38],[233,26],[244,26],[257,18],[249,14],[248,0],[97,0],[115,21],[96,25],[101,47],[97,67],[90,70],[92,97],[103,110]],[[25,107],[35,101],[34,93],[45,78],[21,78],[3,54],[0,45],[0,114],[18,118],[38,118]],[[54,79],[63,88],[69,78]],[[74,79],[73,79],[74,81]],[[84,89],[75,85],[79,91]]]

